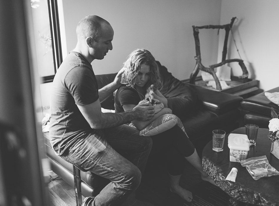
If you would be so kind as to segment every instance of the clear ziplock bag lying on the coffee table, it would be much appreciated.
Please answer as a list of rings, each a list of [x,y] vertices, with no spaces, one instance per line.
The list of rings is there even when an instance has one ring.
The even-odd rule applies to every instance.
[[[252,157],[247,160],[243,160],[240,164],[243,167],[246,167],[247,171],[254,180],[258,180],[261,177],[279,175],[279,172],[268,163],[266,156]]]

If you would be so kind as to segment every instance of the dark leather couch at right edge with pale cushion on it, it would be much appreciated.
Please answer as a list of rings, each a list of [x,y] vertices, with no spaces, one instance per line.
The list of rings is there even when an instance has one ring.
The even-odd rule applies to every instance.
[[[266,92],[279,92],[279,87]],[[243,124],[256,124],[260,128],[268,128],[271,119],[271,107],[278,114],[279,106],[265,97],[265,92],[244,99],[241,102]]]

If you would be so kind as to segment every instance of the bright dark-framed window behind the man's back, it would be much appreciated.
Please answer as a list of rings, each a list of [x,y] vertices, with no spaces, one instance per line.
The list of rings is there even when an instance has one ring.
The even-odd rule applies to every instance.
[[[52,82],[62,63],[57,0],[31,0],[31,7],[39,76]]]

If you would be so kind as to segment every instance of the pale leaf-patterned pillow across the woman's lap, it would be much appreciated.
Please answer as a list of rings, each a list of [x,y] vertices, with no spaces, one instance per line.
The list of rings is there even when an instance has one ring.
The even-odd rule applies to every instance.
[[[185,129],[181,120],[174,114],[164,114],[153,122],[151,122],[147,127],[140,131],[141,136],[153,136],[155,134],[160,134],[167,131],[168,129],[174,127],[175,125],[179,126],[183,132]],[[133,125],[130,125],[133,126]],[[185,132],[186,134],[186,132]]]

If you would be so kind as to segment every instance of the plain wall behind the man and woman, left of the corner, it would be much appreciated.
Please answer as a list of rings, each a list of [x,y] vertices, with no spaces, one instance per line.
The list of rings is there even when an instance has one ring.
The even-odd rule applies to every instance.
[[[113,50],[92,62],[95,74],[118,72],[128,54],[138,47],[178,79],[188,79],[195,66],[192,25],[219,24],[221,0],[63,0],[68,51],[74,49],[76,25],[88,14],[101,16],[114,29]],[[205,65],[217,61],[217,31],[200,32]]]

